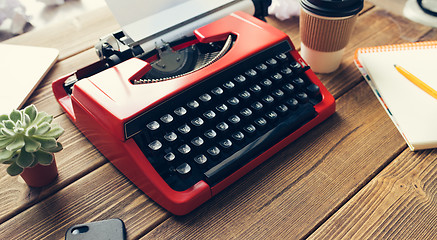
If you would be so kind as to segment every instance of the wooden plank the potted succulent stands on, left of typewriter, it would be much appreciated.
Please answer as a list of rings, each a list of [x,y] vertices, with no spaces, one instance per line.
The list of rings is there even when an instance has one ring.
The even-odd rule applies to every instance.
[[[11,177],[6,174],[7,165],[0,165],[2,173],[0,178],[2,199],[0,223],[107,162],[65,115],[56,118],[54,122],[59,123],[65,129],[65,133],[59,138],[59,141],[63,143],[64,150],[55,153],[59,171],[58,179],[43,188],[29,188],[21,177]]]

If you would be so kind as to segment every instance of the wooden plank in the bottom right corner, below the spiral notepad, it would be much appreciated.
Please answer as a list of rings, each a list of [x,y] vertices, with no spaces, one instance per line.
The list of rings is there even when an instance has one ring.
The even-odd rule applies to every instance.
[[[405,150],[309,239],[435,239],[437,150]]]

